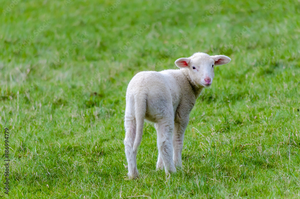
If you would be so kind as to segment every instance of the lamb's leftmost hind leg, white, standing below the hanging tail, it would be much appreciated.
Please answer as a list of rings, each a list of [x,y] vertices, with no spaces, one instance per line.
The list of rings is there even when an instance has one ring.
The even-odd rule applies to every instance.
[[[128,178],[139,178],[139,171],[137,170],[137,150],[133,151],[133,143],[136,135],[136,120],[125,117],[125,154],[128,163]]]

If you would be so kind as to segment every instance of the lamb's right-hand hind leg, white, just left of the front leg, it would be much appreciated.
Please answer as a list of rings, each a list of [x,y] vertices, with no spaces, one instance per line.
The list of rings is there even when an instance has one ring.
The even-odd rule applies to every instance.
[[[166,173],[176,172],[173,162],[172,133],[174,129],[173,120],[162,120],[155,123],[157,130],[158,162],[157,168],[162,167],[162,162]]]

